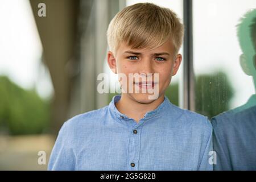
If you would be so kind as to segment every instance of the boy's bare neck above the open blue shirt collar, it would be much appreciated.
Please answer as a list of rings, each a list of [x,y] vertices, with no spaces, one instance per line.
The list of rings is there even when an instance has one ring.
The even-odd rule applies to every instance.
[[[115,107],[117,107],[120,113],[127,115],[129,118],[133,118],[138,123],[148,111],[156,109],[163,101],[164,94],[151,103],[141,104],[131,99],[128,94],[122,93],[120,100],[115,103]]]

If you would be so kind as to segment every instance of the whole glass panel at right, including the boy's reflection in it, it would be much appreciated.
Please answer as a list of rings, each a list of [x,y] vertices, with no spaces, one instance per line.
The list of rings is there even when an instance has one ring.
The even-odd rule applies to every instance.
[[[255,5],[193,1],[196,111],[213,117],[216,170],[256,170]]]

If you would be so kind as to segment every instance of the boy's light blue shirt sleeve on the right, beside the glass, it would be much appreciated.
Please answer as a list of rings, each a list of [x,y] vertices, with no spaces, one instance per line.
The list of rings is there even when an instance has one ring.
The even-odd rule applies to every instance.
[[[210,122],[209,122],[209,125],[210,125]],[[210,125],[210,131],[208,132],[208,137],[207,137],[207,144],[204,147],[205,149],[204,149],[203,157],[201,158],[201,162],[198,168],[199,171],[213,171],[213,164],[210,163],[211,155],[209,155],[210,154],[209,152],[213,151],[212,134],[213,134],[213,130],[212,130],[212,126]]]

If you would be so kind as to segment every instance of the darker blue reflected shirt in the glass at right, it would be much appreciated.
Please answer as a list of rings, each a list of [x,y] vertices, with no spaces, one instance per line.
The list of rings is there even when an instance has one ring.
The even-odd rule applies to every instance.
[[[236,109],[212,118],[214,170],[256,171],[256,95]],[[254,105],[253,105],[254,104]]]

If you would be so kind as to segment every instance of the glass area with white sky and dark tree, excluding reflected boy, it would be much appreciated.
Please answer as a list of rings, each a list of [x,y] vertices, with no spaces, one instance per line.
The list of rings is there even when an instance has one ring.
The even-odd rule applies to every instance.
[[[245,104],[254,94],[252,77],[241,68],[236,27],[252,7],[254,0],[193,1],[197,112],[213,117]]]

